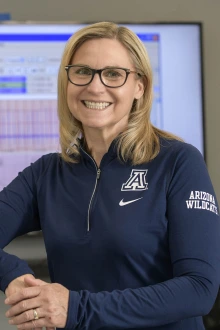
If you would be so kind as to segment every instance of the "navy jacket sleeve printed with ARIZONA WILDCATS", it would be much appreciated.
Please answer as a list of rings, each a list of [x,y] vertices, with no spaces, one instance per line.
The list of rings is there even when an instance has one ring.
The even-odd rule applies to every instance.
[[[123,291],[70,291],[66,328],[151,328],[202,316],[212,308],[220,280],[216,197],[194,147],[175,151],[170,166],[167,220],[173,278]]]

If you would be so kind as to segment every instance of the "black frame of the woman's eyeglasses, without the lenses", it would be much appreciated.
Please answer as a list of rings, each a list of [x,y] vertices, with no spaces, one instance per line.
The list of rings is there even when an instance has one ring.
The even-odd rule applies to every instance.
[[[75,84],[75,83],[73,83],[72,80],[69,77],[69,69],[70,68],[73,68],[73,67],[88,68],[89,70],[91,70],[92,75],[91,75],[90,81],[88,83],[86,83],[86,84]],[[120,69],[120,70],[124,70],[125,73],[126,73],[126,77],[125,77],[125,81],[123,82],[123,84],[121,84],[119,86],[109,86],[109,85],[106,85],[104,83],[104,81],[102,80],[102,71],[107,70],[107,69]],[[90,68],[89,66],[86,66],[86,65],[73,65],[73,64],[71,64],[71,65],[66,65],[65,66],[65,70],[67,72],[67,77],[68,77],[69,82],[71,82],[71,84],[73,84],[75,86],[87,86],[87,85],[89,85],[93,81],[93,78],[94,78],[94,76],[95,76],[96,73],[98,73],[101,83],[104,86],[109,87],[109,88],[118,88],[118,87],[123,86],[126,83],[126,81],[127,81],[128,76],[129,76],[130,73],[136,73],[139,77],[142,76],[139,72],[132,71],[132,70],[127,69],[127,68],[119,68],[119,67],[109,67],[109,68],[104,68],[104,69],[98,69],[98,70],[96,70],[96,69],[92,69],[92,68]]]

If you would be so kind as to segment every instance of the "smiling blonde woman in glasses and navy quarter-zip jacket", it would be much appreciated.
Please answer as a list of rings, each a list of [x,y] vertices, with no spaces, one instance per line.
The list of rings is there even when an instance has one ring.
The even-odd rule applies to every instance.
[[[0,195],[2,247],[41,229],[52,281],[2,252],[19,329],[204,329],[219,286],[216,197],[200,153],[151,125],[151,103],[149,59],[131,31],[104,22],[71,37],[62,153]]]

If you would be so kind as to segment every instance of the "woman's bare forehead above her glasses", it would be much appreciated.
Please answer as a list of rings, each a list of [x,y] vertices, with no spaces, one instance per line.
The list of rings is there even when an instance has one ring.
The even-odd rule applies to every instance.
[[[75,52],[71,64],[85,64],[95,69],[134,67],[128,50],[118,40],[107,38],[85,41]]]

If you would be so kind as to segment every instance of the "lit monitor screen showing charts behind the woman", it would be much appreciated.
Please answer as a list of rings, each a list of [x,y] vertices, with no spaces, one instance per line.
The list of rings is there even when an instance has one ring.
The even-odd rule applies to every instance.
[[[0,25],[0,190],[42,154],[59,151],[57,74],[66,41],[84,25]],[[204,155],[201,25],[122,25],[150,57],[152,123]]]

